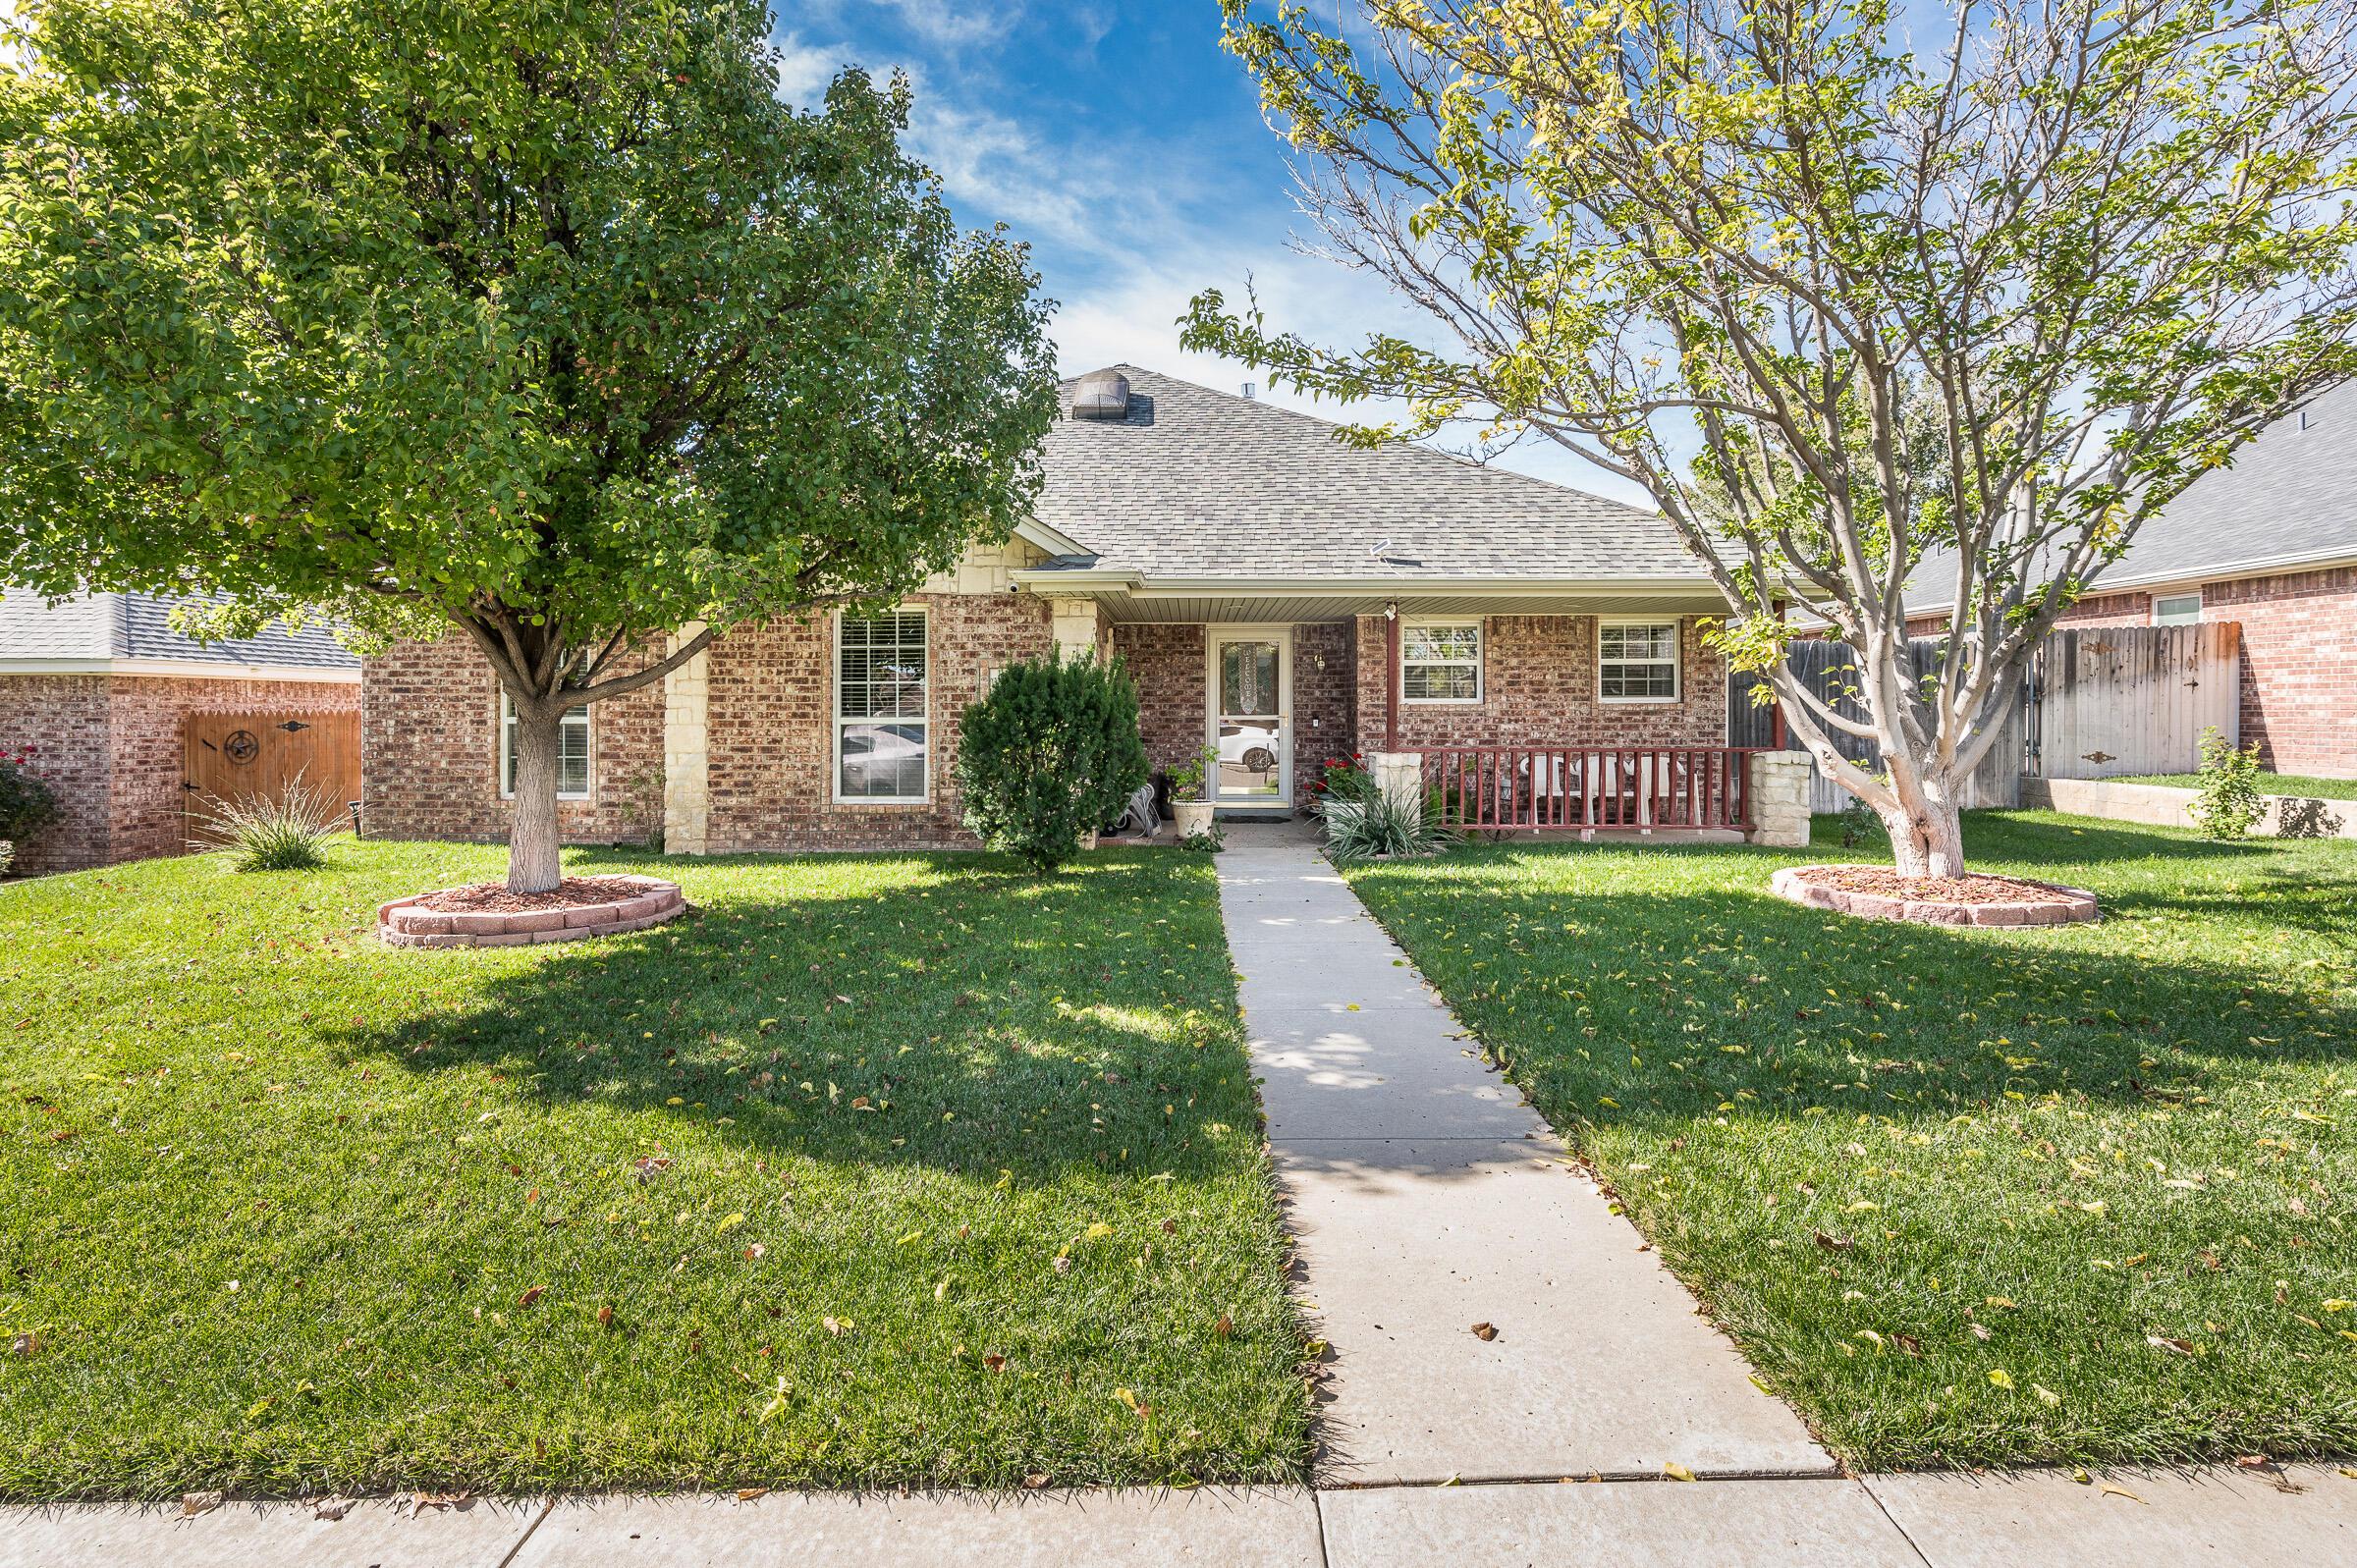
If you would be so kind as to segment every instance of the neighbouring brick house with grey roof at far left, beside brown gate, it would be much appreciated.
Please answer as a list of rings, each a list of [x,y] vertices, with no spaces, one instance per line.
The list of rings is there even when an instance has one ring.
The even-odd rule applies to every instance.
[[[276,724],[358,710],[361,660],[325,627],[198,644],[172,630],[174,604],[0,589],[0,750],[31,747],[66,809],[19,846],[19,872],[179,854],[191,783],[236,795],[240,778],[276,778],[288,750],[321,740]],[[191,752],[210,766],[193,769]],[[325,783],[325,766],[313,773]]]

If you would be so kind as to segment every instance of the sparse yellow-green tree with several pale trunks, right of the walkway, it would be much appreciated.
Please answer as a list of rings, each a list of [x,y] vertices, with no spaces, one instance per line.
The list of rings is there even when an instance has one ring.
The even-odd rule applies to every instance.
[[[1963,870],[1959,790],[2102,564],[2357,370],[2352,0],[1954,0],[1928,50],[1879,0],[1223,9],[1327,252],[1452,347],[1219,292],[1188,347],[1407,401],[1358,439],[1483,420],[1640,483],[1909,875]],[[1864,722],[1784,667],[1784,599]]]

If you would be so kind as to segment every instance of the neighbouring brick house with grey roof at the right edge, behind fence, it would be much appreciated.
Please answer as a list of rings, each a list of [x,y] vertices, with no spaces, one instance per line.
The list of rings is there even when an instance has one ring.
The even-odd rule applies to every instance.
[[[1937,632],[1945,608],[1909,599],[1909,630]],[[2242,625],[2242,743],[2277,773],[2357,776],[2357,382],[2187,486],[2062,615],[2204,620]]]

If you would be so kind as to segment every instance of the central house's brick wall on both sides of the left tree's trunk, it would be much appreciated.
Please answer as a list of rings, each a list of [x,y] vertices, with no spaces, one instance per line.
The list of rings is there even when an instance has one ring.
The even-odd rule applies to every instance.
[[[627,658],[641,670],[655,651]],[[387,839],[504,839],[500,679],[464,637],[396,644],[361,681],[361,821]],[[589,799],[556,804],[568,844],[662,825],[662,681],[589,705]]]

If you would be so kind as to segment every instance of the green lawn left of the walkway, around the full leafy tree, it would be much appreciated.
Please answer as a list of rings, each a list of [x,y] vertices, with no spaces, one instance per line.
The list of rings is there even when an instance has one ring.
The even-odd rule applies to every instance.
[[[1204,861],[580,854],[700,917],[370,936],[500,865],[0,889],[0,1495],[1303,1476]]]

